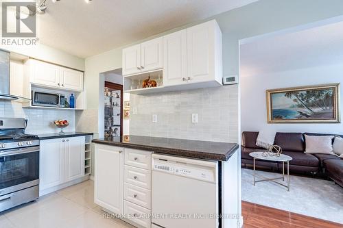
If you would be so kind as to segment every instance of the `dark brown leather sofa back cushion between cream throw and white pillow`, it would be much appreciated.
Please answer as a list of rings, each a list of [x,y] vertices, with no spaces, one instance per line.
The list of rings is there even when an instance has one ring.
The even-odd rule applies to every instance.
[[[277,132],[274,145],[280,146],[283,151],[305,151],[305,141],[302,133]]]

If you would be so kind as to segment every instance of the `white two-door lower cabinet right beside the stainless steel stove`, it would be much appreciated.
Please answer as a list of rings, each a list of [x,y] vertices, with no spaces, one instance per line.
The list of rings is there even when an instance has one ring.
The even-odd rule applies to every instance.
[[[84,177],[84,140],[84,136],[40,140],[40,192]]]

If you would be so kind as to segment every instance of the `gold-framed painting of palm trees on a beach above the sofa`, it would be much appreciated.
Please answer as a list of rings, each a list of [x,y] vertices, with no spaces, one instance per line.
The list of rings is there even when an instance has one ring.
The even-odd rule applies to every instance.
[[[267,90],[268,123],[340,123],[340,84]]]

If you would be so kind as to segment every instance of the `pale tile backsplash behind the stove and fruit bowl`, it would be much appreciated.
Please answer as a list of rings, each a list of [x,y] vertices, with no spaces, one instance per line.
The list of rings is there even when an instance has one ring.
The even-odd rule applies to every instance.
[[[27,134],[56,133],[60,129],[52,123],[58,119],[66,119],[69,126],[64,131],[75,131],[74,110],[48,110],[36,108],[22,108],[21,103],[15,101],[0,101],[0,117],[27,118]]]

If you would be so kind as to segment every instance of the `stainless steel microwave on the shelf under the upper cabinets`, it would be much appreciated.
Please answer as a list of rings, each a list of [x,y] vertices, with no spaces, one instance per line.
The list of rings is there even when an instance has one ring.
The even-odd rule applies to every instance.
[[[64,107],[64,94],[32,90],[32,105]]]

